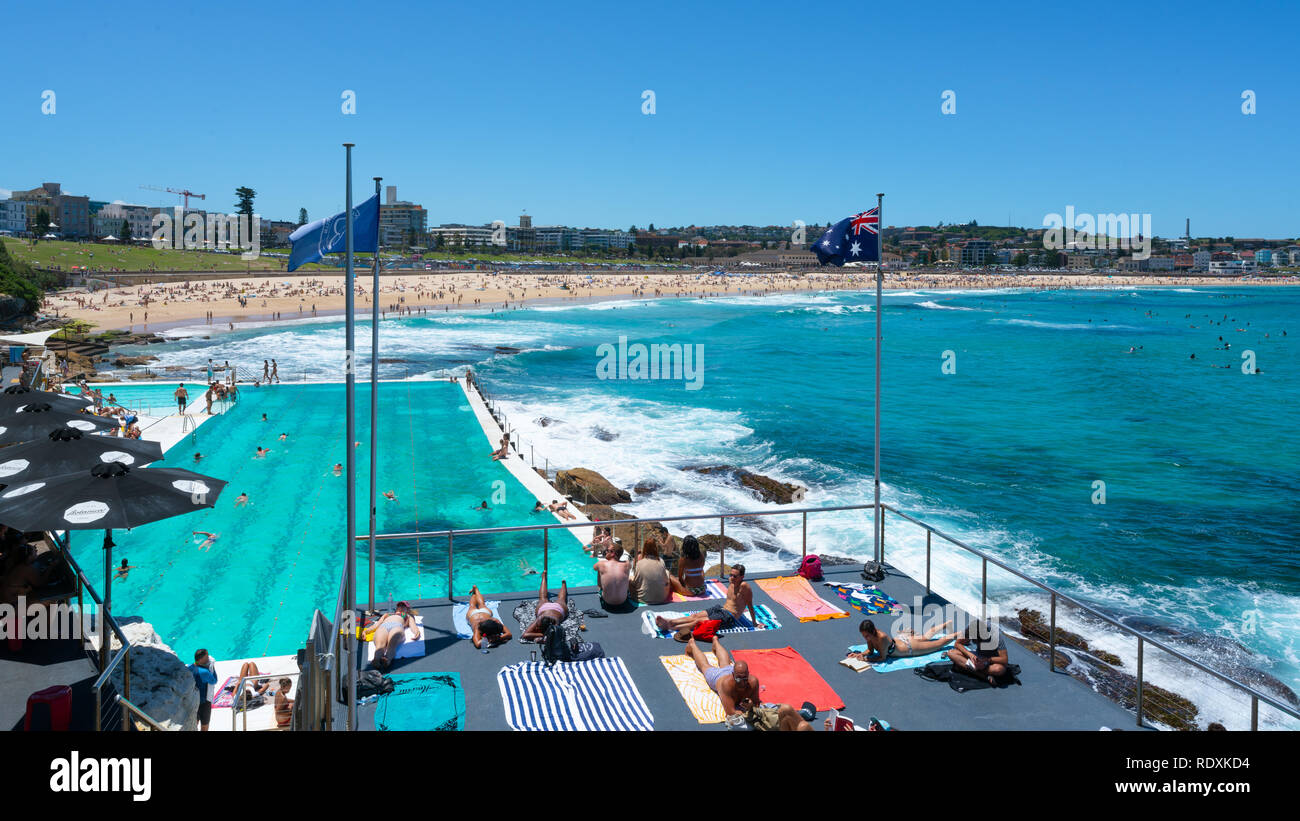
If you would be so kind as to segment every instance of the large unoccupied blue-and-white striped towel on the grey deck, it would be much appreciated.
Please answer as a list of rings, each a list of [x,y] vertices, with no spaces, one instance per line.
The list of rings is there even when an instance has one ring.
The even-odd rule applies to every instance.
[[[653,730],[654,716],[618,656],[547,666],[521,661],[497,673],[512,730]]]

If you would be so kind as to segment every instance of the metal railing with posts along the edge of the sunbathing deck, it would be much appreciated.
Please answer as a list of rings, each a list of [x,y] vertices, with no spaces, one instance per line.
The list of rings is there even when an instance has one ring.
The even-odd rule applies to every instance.
[[[542,551],[543,551],[542,562],[543,562],[543,572],[545,572],[546,569],[549,569],[549,565],[550,565],[550,533],[551,533],[551,530],[571,530],[571,529],[575,529],[575,527],[593,527],[593,526],[594,527],[606,527],[606,526],[607,527],[628,527],[628,526],[630,526],[630,527],[634,529],[634,533],[636,533],[634,546],[633,546],[633,549],[632,549],[632,555],[634,556],[640,551],[640,548],[641,548],[641,529],[642,529],[642,526],[647,526],[647,525],[662,525],[664,522],[685,522],[685,521],[718,520],[718,522],[719,522],[719,534],[723,535],[723,537],[725,537],[727,535],[727,520],[728,518],[763,517],[763,516],[800,516],[802,518],[802,522],[801,522],[802,527],[801,527],[801,548],[800,548],[800,552],[801,552],[801,556],[807,556],[807,549],[809,549],[807,520],[809,520],[809,514],[835,513],[835,512],[846,512],[846,511],[871,511],[874,508],[875,508],[875,505],[871,504],[871,503],[868,503],[868,504],[850,504],[850,505],[836,505],[836,507],[823,507],[823,508],[793,508],[793,509],[784,509],[784,511],[737,511],[737,512],[728,512],[728,513],[698,513],[698,514],[690,514],[690,516],[656,516],[656,517],[653,517],[653,518],[623,518],[623,520],[603,520],[603,521],[592,521],[592,522],[581,522],[581,521],[578,521],[578,522],[547,522],[547,524],[541,524],[541,525],[516,525],[516,526],[507,526],[507,527],[473,527],[473,529],[464,529],[464,530],[426,530],[426,531],[411,531],[411,533],[385,533],[385,534],[376,534],[374,535],[374,540],[376,542],[410,540],[410,539],[430,540],[430,539],[442,539],[442,538],[446,538],[446,540],[447,540],[447,599],[448,600],[454,600],[455,596],[454,596],[454,592],[452,592],[452,583],[454,583],[454,578],[455,578],[455,539],[456,539],[456,537],[493,535],[493,534],[524,533],[524,531],[541,530],[542,531]],[[1266,695],[1264,692],[1260,692],[1258,690],[1251,687],[1249,685],[1245,685],[1245,683],[1243,683],[1240,681],[1236,681],[1235,678],[1231,678],[1230,676],[1226,676],[1223,673],[1219,673],[1217,670],[1210,669],[1209,666],[1201,664],[1200,661],[1196,661],[1195,659],[1191,659],[1187,655],[1184,655],[1184,653],[1174,650],[1173,647],[1170,647],[1165,642],[1161,642],[1160,639],[1150,638],[1149,635],[1145,635],[1145,634],[1143,634],[1143,633],[1140,633],[1140,631],[1138,631],[1138,630],[1135,630],[1135,629],[1132,629],[1132,627],[1130,627],[1130,626],[1127,626],[1127,625],[1117,621],[1115,618],[1113,618],[1110,616],[1106,616],[1105,613],[1100,612],[1098,609],[1096,609],[1096,608],[1093,608],[1093,607],[1091,607],[1088,604],[1084,604],[1083,601],[1075,599],[1074,596],[1070,596],[1069,594],[1061,592],[1060,590],[1052,587],[1050,585],[1048,585],[1045,582],[1040,582],[1040,581],[1037,581],[1035,578],[1031,578],[1031,577],[1026,575],[1024,573],[1020,573],[1019,570],[1009,566],[1006,562],[1004,562],[1004,561],[1001,561],[1001,560],[998,560],[998,559],[996,559],[993,556],[989,556],[988,553],[985,553],[984,551],[982,551],[979,548],[975,548],[975,547],[971,547],[971,546],[966,544],[961,539],[957,539],[954,537],[948,535],[946,533],[944,533],[942,530],[939,530],[937,527],[935,527],[932,525],[927,525],[926,522],[923,522],[923,521],[920,521],[920,520],[918,520],[918,518],[915,518],[915,517],[913,517],[913,516],[910,516],[907,513],[904,513],[902,511],[900,511],[898,508],[896,508],[896,507],[893,507],[890,504],[881,503],[880,508],[881,509],[880,509],[880,522],[879,524],[880,524],[880,531],[881,533],[880,533],[880,549],[879,549],[879,553],[876,555],[876,561],[881,561],[881,562],[885,561],[885,538],[884,538],[884,533],[885,533],[885,527],[884,527],[885,511],[889,511],[889,512],[900,516],[905,521],[911,522],[913,525],[916,525],[916,526],[922,527],[926,531],[926,592],[927,594],[932,591],[931,557],[932,557],[933,537],[939,537],[940,539],[942,539],[942,540],[945,540],[945,542],[948,542],[948,543],[950,543],[950,544],[953,544],[956,547],[959,547],[961,549],[966,551],[967,553],[970,553],[970,555],[972,555],[972,556],[975,556],[975,557],[978,557],[980,560],[980,618],[982,620],[985,620],[988,617],[988,568],[989,568],[989,565],[993,565],[993,566],[996,566],[998,569],[1002,569],[1002,570],[1010,573],[1011,575],[1014,575],[1015,578],[1020,579],[1022,582],[1026,582],[1026,583],[1028,583],[1028,585],[1031,585],[1031,586],[1041,590],[1043,592],[1045,592],[1049,596],[1049,599],[1050,599],[1050,627],[1049,627],[1049,637],[1048,637],[1048,647],[1049,647],[1048,666],[1049,666],[1049,669],[1052,672],[1056,672],[1056,664],[1054,664],[1056,663],[1056,657],[1057,657],[1057,650],[1056,648],[1057,648],[1057,637],[1060,634],[1060,630],[1057,629],[1057,605],[1060,603],[1062,603],[1062,601],[1069,603],[1069,604],[1079,608],[1082,612],[1088,613],[1091,617],[1100,620],[1101,622],[1104,622],[1104,624],[1106,624],[1106,625],[1109,625],[1109,626],[1119,630],[1121,633],[1123,633],[1126,635],[1135,637],[1138,639],[1138,676],[1136,676],[1136,711],[1135,711],[1135,713],[1136,713],[1136,722],[1138,722],[1139,726],[1143,726],[1143,720],[1144,720],[1145,707],[1147,707],[1147,703],[1145,703],[1147,701],[1145,688],[1147,688],[1148,681],[1147,681],[1147,672],[1145,672],[1144,664],[1143,664],[1144,652],[1147,650],[1147,646],[1156,647],[1156,648],[1158,648],[1158,650],[1169,653],[1170,656],[1173,656],[1178,661],[1180,661],[1180,663],[1183,663],[1183,664],[1186,664],[1186,665],[1188,665],[1188,666],[1191,666],[1191,668],[1193,668],[1193,669],[1196,669],[1196,670],[1206,674],[1206,676],[1210,676],[1214,679],[1217,679],[1217,681],[1219,681],[1219,682],[1222,682],[1222,683],[1225,683],[1227,686],[1230,686],[1231,688],[1234,688],[1239,694],[1242,694],[1244,696],[1249,696],[1249,699],[1251,699],[1251,729],[1252,730],[1258,730],[1260,704],[1266,704],[1266,705],[1269,705],[1269,707],[1271,707],[1271,708],[1274,708],[1274,709],[1277,709],[1277,711],[1279,711],[1279,712],[1282,712],[1282,713],[1284,713],[1287,716],[1291,716],[1294,718],[1300,720],[1300,711],[1297,711],[1296,708],[1290,707],[1287,704],[1283,704],[1278,699],[1275,699],[1273,696],[1269,696],[1269,695]],[[369,544],[370,538],[369,538],[368,534],[360,534],[360,535],[356,537],[356,542],[358,543]],[[725,540],[720,540],[719,544],[718,544],[718,547],[719,547],[719,551],[718,551],[718,553],[719,553],[719,564],[725,565],[727,564],[727,546],[725,546]],[[346,579],[344,579],[344,583],[346,583]],[[343,591],[341,588],[341,591],[339,591],[339,605],[341,607],[342,607],[342,592]],[[335,621],[335,624],[337,624],[337,621]]]

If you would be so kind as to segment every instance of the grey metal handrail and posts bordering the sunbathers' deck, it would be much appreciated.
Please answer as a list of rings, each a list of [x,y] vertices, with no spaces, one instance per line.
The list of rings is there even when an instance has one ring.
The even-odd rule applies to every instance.
[[[482,534],[502,534],[502,533],[521,533],[521,531],[529,531],[529,530],[534,530],[534,531],[536,530],[541,530],[542,534],[543,534],[542,549],[546,552],[546,555],[543,556],[543,562],[549,562],[549,559],[550,559],[550,556],[549,556],[550,539],[547,537],[550,535],[551,530],[569,530],[569,529],[573,529],[573,527],[593,527],[593,526],[599,526],[599,527],[604,527],[604,526],[618,526],[618,527],[633,526],[633,527],[637,529],[637,534],[638,534],[638,537],[637,537],[637,543],[638,544],[636,547],[640,547],[640,527],[642,525],[662,524],[662,522],[699,521],[699,520],[714,520],[714,518],[716,518],[716,520],[719,520],[719,522],[722,522],[723,529],[724,529],[723,533],[725,534],[725,520],[728,520],[728,518],[742,518],[742,517],[746,517],[746,516],[758,517],[758,516],[801,514],[802,518],[803,518],[803,527],[802,527],[803,548],[802,549],[803,549],[803,555],[807,555],[807,516],[809,516],[809,513],[835,513],[835,512],[844,512],[844,511],[870,511],[872,508],[875,508],[875,504],[874,503],[867,503],[867,504],[835,505],[835,507],[824,507],[824,508],[788,508],[788,509],[781,509],[781,511],[737,511],[737,512],[728,512],[728,513],[696,513],[696,514],[689,514],[689,516],[655,516],[655,517],[650,517],[650,518],[618,518],[618,520],[601,520],[601,521],[590,521],[590,522],[546,522],[546,524],[540,524],[540,525],[515,525],[515,526],[506,526],[506,527],[471,527],[471,529],[464,529],[464,530],[455,530],[455,529],[451,529],[451,530],[422,530],[422,531],[407,531],[407,533],[374,534],[374,540],[376,542],[384,542],[384,540],[395,540],[395,539],[446,538],[448,540],[448,544],[451,544],[452,540],[455,539],[455,537],[458,537],[458,535],[482,535]],[[1178,659],[1179,661],[1183,661],[1184,664],[1188,664],[1192,668],[1195,668],[1195,669],[1197,669],[1197,670],[1200,670],[1202,673],[1209,674],[1210,677],[1213,677],[1213,678],[1216,678],[1216,679],[1218,679],[1218,681],[1228,685],[1230,687],[1234,687],[1235,690],[1240,691],[1243,695],[1251,696],[1251,699],[1252,699],[1252,704],[1251,704],[1251,729],[1252,730],[1258,729],[1258,705],[1260,705],[1261,701],[1264,704],[1268,704],[1269,707],[1273,707],[1274,709],[1277,709],[1277,711],[1279,711],[1279,712],[1282,712],[1284,714],[1288,714],[1288,716],[1291,716],[1294,718],[1300,718],[1300,711],[1297,711],[1296,708],[1294,708],[1291,705],[1287,705],[1287,704],[1283,704],[1278,699],[1275,699],[1275,698],[1273,698],[1273,696],[1270,696],[1268,694],[1260,692],[1258,690],[1251,687],[1249,685],[1242,683],[1242,682],[1231,678],[1230,676],[1226,676],[1226,674],[1219,673],[1219,672],[1217,672],[1214,669],[1210,669],[1209,666],[1201,664],[1200,661],[1196,661],[1195,659],[1191,659],[1187,655],[1184,655],[1184,653],[1182,653],[1182,652],[1171,648],[1165,642],[1161,642],[1160,639],[1150,638],[1150,637],[1145,635],[1144,633],[1140,633],[1140,631],[1138,631],[1138,630],[1135,630],[1135,629],[1132,629],[1132,627],[1130,627],[1130,626],[1127,626],[1127,625],[1117,621],[1115,618],[1112,618],[1110,616],[1106,616],[1105,613],[1097,611],[1096,608],[1089,607],[1088,604],[1084,604],[1084,603],[1079,601],[1074,596],[1070,596],[1070,595],[1067,595],[1065,592],[1061,592],[1060,590],[1057,590],[1056,587],[1052,587],[1050,585],[1048,585],[1045,582],[1040,582],[1040,581],[1037,581],[1035,578],[1031,578],[1031,577],[1026,575],[1024,573],[1020,573],[1019,570],[1009,566],[1006,562],[998,560],[997,557],[989,556],[987,552],[980,551],[978,548],[974,548],[974,547],[966,544],[965,542],[962,542],[961,539],[957,539],[957,538],[954,538],[954,537],[944,533],[942,530],[940,530],[937,527],[933,527],[932,525],[927,525],[926,522],[920,521],[919,518],[915,518],[914,516],[904,513],[902,511],[900,511],[894,505],[890,505],[888,503],[880,503],[880,516],[881,517],[884,516],[885,511],[890,511],[890,512],[901,516],[902,518],[905,518],[909,522],[911,522],[911,524],[922,527],[926,531],[926,534],[927,534],[926,535],[926,577],[927,577],[926,578],[926,586],[927,586],[927,591],[930,590],[931,537],[932,535],[937,535],[941,539],[944,539],[944,540],[946,540],[946,542],[949,542],[949,543],[952,543],[952,544],[954,544],[954,546],[957,546],[957,547],[967,551],[968,553],[971,553],[975,557],[978,557],[978,559],[982,560],[982,585],[980,585],[980,609],[982,609],[982,616],[984,616],[983,611],[985,611],[987,604],[988,604],[988,565],[989,564],[992,564],[992,565],[994,565],[997,568],[1001,568],[1002,570],[1006,570],[1008,573],[1010,573],[1015,578],[1019,578],[1019,579],[1022,579],[1024,582],[1028,582],[1034,587],[1037,587],[1037,588],[1043,590],[1044,592],[1046,592],[1052,598],[1052,627],[1050,627],[1052,635],[1049,637],[1052,657],[1049,659],[1048,664],[1049,664],[1049,668],[1053,672],[1056,670],[1056,668],[1054,668],[1056,634],[1057,634],[1057,629],[1056,629],[1056,605],[1057,605],[1057,599],[1062,599],[1062,600],[1069,601],[1070,604],[1075,605],[1076,608],[1084,611],[1089,616],[1093,616],[1093,617],[1098,618],[1104,624],[1110,625],[1112,627],[1118,629],[1121,633],[1124,633],[1127,635],[1135,637],[1138,639],[1138,642],[1139,642],[1139,647],[1138,647],[1138,650],[1139,650],[1139,660],[1141,659],[1144,646],[1145,644],[1150,644],[1152,647],[1156,647],[1156,648],[1158,648],[1158,650],[1169,653],[1174,659]],[[369,543],[370,542],[370,535],[369,534],[358,534],[356,535],[356,542]],[[725,548],[720,549],[719,553],[722,556],[723,562],[725,564],[725,552],[724,552],[724,549]],[[884,561],[884,551],[885,551],[885,542],[884,542],[884,538],[881,538],[880,539],[880,553],[881,555],[879,556],[880,561]],[[455,572],[454,556],[450,553],[450,551],[448,551],[448,556],[447,556],[447,570],[451,574],[454,574],[454,572]],[[346,570],[344,570],[344,574],[346,574]],[[343,596],[343,585],[346,585],[346,583],[347,583],[347,579],[346,578],[342,579],[341,587],[339,587],[339,599],[341,600],[342,600],[342,596]],[[448,596],[450,596],[451,595],[451,591],[450,591],[451,578],[450,577],[448,577],[448,582],[447,583],[448,583]],[[339,607],[342,607],[342,604]],[[338,614],[338,613],[341,613],[341,611],[335,611],[335,613]],[[337,627],[337,625],[335,625],[335,627]],[[337,642],[338,640],[338,630],[335,629],[334,633],[335,633],[334,640]],[[1139,668],[1138,668],[1138,708],[1136,708],[1138,724],[1139,725],[1141,725],[1141,720],[1143,720],[1143,686],[1144,686],[1144,683],[1145,683],[1145,670],[1143,669],[1143,665],[1139,664]]]

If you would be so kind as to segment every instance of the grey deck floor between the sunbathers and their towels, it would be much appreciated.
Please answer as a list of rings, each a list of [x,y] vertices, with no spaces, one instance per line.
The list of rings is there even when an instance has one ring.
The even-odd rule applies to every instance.
[[[827,581],[861,582],[859,570],[861,565],[827,568],[826,577]],[[771,575],[777,574],[753,574],[749,581]],[[558,590],[558,582],[559,579],[555,579],[556,586],[551,592]],[[914,596],[924,595],[920,583],[894,570],[890,570],[879,587],[906,605],[913,604]],[[833,590],[814,583],[814,588],[823,599],[842,605],[842,609],[849,611],[849,617],[800,624],[789,611],[772,601],[757,585],[753,585],[753,588],[754,603],[768,605],[781,622],[781,629],[727,635],[723,637],[724,646],[728,650],[793,647],[844,699],[842,712],[859,722],[878,716],[900,730],[1097,730],[1102,726],[1135,729],[1132,713],[1084,683],[1063,673],[1050,672],[1045,660],[1013,640],[1008,640],[1006,646],[1011,663],[1022,668],[1022,686],[959,694],[946,683],[918,678],[911,670],[855,673],[840,665],[838,660],[844,657],[848,646],[862,640],[858,622],[863,616],[841,601]],[[393,673],[459,672],[465,692],[467,730],[510,729],[497,685],[497,673],[504,665],[526,661],[532,648],[519,642],[517,637],[523,629],[511,617],[511,611],[519,601],[536,599],[537,590],[489,594],[488,598],[502,601],[500,616],[515,634],[515,640],[486,655],[481,653],[469,640],[456,638],[451,627],[452,605],[446,599],[412,601],[424,616],[425,631],[430,637],[426,640],[428,652],[419,659],[402,659],[391,670]],[[599,608],[594,587],[571,587],[569,598],[580,609]],[[707,604],[716,603],[720,601]],[[931,596],[924,599],[924,603],[946,601]],[[703,609],[701,604],[688,601],[651,609],[699,611]],[[723,731],[723,725],[701,725],[696,721],[659,661],[662,655],[681,653],[685,646],[642,634],[638,616],[638,612],[633,612],[611,613],[608,618],[588,617],[586,640],[599,642],[607,656],[623,659],[654,714],[656,730]],[[874,618],[879,625],[889,621],[887,617]],[[702,650],[708,647],[703,646]],[[815,729],[822,729],[820,720],[826,714],[819,713]],[[346,726],[342,707],[335,711],[335,726]],[[374,729],[373,704],[363,704],[358,709],[358,727]]]

